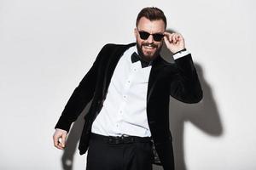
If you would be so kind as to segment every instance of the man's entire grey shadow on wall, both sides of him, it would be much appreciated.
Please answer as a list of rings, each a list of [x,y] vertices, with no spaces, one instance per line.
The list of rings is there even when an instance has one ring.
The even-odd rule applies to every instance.
[[[169,31],[172,32],[172,31]],[[161,56],[168,62],[173,62],[170,58],[172,54],[164,46]],[[166,56],[169,56],[166,58]],[[223,126],[219,117],[218,107],[212,96],[212,88],[203,77],[201,65],[195,64],[196,71],[201,80],[204,97],[198,104],[184,104],[171,97],[170,99],[170,128],[173,137],[173,149],[175,157],[175,167],[177,170],[186,170],[184,161],[184,140],[183,131],[184,123],[191,122],[203,132],[212,136],[221,136],[223,134]],[[73,123],[73,127],[67,138],[67,146],[61,157],[62,167],[64,170],[73,169],[73,156],[77,150],[80,134],[84,125],[84,114],[87,113],[90,105],[87,105],[78,120]],[[85,163],[85,160],[84,160]],[[160,166],[153,166],[154,170],[163,169]]]

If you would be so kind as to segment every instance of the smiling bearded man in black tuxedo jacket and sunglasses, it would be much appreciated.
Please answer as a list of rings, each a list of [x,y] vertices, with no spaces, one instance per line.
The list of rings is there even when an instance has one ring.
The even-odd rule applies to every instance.
[[[202,98],[183,37],[166,32],[159,8],[143,8],[134,34],[136,43],[102,48],[55,126],[54,144],[62,150],[71,124],[92,99],[79,143],[81,155],[88,150],[88,170],[149,170],[154,154],[165,170],[174,169],[169,96],[186,103]],[[174,64],[160,57],[164,42]]]

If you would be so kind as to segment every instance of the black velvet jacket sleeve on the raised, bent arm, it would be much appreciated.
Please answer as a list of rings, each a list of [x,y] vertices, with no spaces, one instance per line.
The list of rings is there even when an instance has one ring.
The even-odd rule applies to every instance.
[[[177,72],[171,82],[170,94],[184,103],[197,103],[203,97],[191,54],[175,59]]]

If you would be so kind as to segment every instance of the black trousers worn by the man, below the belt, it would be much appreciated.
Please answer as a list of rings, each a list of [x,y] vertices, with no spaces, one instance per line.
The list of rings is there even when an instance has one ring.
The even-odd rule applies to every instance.
[[[90,137],[86,170],[152,170],[151,141],[114,144],[92,134],[99,138]]]

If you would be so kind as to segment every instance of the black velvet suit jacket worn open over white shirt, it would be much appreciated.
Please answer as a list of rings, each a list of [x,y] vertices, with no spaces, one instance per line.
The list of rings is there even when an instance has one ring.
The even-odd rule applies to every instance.
[[[79,153],[88,149],[92,122],[102,109],[113,71],[128,45],[107,44],[97,55],[90,71],[75,88],[55,128],[69,131],[84,107],[92,99],[89,112],[84,116],[84,128],[79,142]],[[174,169],[172,134],[169,130],[170,95],[185,103],[196,103],[202,98],[201,84],[191,55],[167,63],[160,56],[154,59],[148,80],[147,116],[154,146],[165,170]]]

